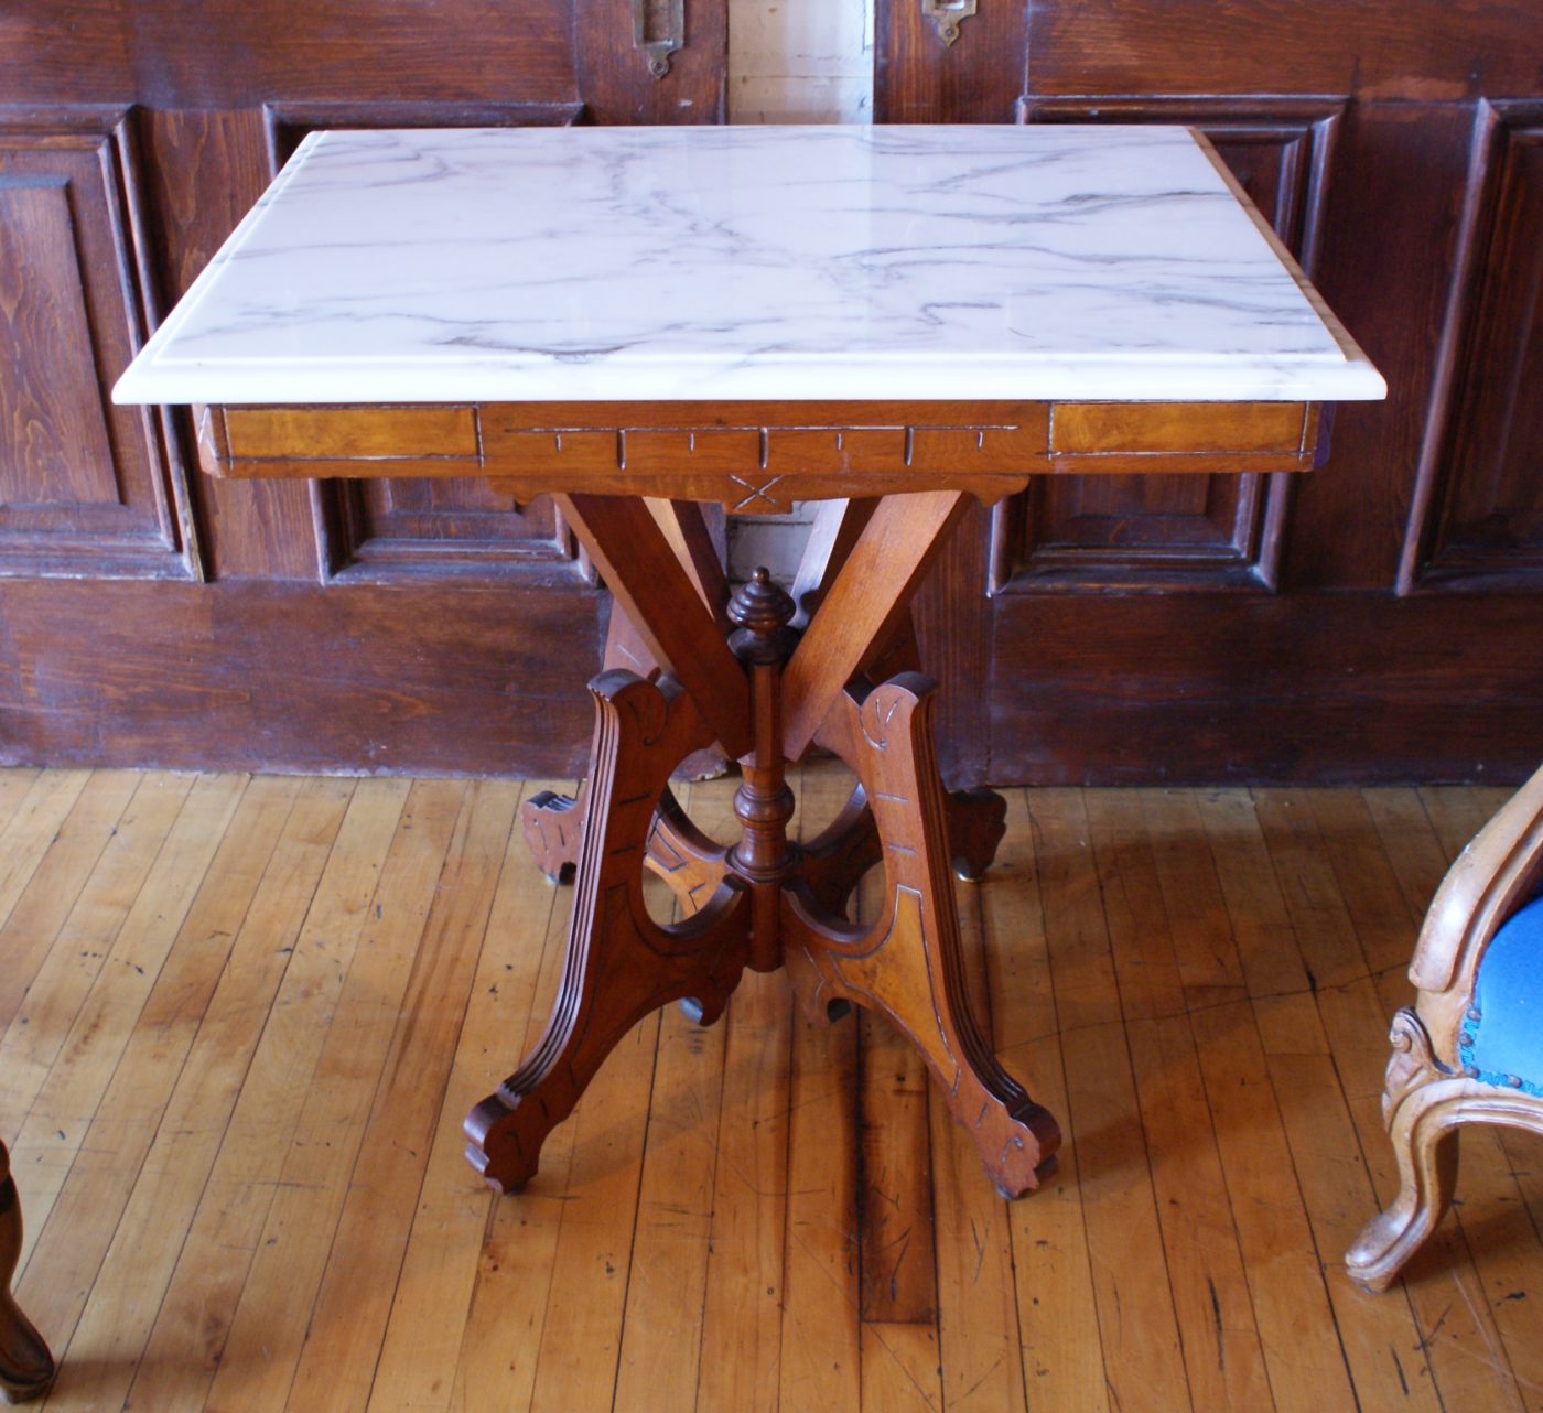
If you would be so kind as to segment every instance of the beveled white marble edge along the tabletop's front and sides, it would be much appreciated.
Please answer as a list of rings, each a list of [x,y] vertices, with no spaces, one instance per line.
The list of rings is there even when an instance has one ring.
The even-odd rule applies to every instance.
[[[1197,134],[1191,134],[1197,136]],[[228,350],[208,359],[177,347],[177,333],[196,315],[219,270],[238,255],[248,231],[304,170],[322,134],[312,134],[253,210],[242,219],[210,267],[164,322],[114,387],[117,403],[321,404],[321,403],[468,403],[468,401],[747,401],[747,400],[1129,400],[1129,401],[1359,401],[1386,396],[1386,384],[1364,353],[1329,315],[1310,282],[1262,218],[1244,208],[1273,253],[1313,304],[1338,344],[1336,353],[1200,353],[1160,350],[1077,353],[1001,352],[972,358],[958,350],[940,356],[915,350],[801,349],[779,356],[758,350],[734,359],[722,350],[617,349],[603,359],[569,359],[531,353],[435,349],[410,356],[350,353],[307,359],[242,358]],[[1208,143],[1197,143],[1214,162]],[[1221,164],[1216,162],[1217,168]],[[1234,194],[1239,188],[1222,170]],[[162,355],[173,355],[167,361]]]

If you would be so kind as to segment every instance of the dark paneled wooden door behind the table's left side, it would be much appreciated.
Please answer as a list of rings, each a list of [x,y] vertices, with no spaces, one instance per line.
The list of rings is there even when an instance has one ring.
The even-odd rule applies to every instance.
[[[108,390],[306,131],[721,122],[724,0],[0,12],[0,762],[571,771],[605,597],[546,501],[218,483]]]

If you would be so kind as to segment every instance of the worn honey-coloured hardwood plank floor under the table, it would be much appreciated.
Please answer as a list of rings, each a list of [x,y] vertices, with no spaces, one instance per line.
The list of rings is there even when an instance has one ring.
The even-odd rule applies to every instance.
[[[1466,1131],[1407,1282],[1341,1271],[1418,918],[1504,791],[1012,791],[964,932],[1066,1143],[1009,1206],[915,1054],[779,975],[639,1026],[486,1191],[461,1117],[562,963],[543,784],[0,771],[49,1410],[1543,1408],[1537,1142]]]

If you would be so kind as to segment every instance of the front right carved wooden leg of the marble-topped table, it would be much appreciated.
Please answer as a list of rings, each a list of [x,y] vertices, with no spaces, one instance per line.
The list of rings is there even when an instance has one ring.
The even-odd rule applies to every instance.
[[[1008,1197],[1038,1186],[1060,1145],[1046,1109],[997,1063],[971,1013],[949,879],[943,784],[932,745],[934,683],[904,673],[863,700],[849,690],[816,739],[863,782],[883,841],[889,898],[872,929],[824,915],[805,887],[785,905],[785,959],[815,1017],[852,1001],[886,1013],[926,1057],[954,1117]]]

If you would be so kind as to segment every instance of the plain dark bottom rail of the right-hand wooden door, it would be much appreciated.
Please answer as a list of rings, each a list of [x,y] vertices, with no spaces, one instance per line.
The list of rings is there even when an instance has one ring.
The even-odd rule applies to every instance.
[[[1512,779],[1543,756],[1524,595],[1004,595],[989,660],[994,779]]]

